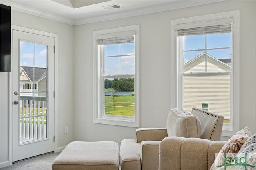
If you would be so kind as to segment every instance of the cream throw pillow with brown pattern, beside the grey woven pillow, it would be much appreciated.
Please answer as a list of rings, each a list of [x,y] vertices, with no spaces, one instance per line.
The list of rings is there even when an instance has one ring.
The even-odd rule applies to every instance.
[[[236,132],[228,141],[225,143],[225,145],[220,149],[220,152],[216,156],[215,161],[213,162],[210,170],[214,169],[223,169],[222,168],[216,168],[218,165],[224,164],[224,153],[238,153],[242,145],[252,136],[252,133],[250,132],[249,128],[246,126],[244,129]]]

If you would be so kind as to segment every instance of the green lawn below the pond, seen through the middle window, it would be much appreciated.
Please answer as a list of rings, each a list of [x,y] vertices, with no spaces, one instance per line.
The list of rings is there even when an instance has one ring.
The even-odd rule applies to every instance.
[[[134,116],[134,96],[105,96],[105,114]]]

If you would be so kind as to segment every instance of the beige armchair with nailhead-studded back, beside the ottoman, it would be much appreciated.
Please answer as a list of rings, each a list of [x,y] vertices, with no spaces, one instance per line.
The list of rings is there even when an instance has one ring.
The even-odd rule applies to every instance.
[[[122,170],[158,170],[159,145],[165,137],[220,140],[224,117],[202,109],[191,113],[174,108],[168,113],[166,128],[136,129],[136,140],[124,139],[120,145]]]

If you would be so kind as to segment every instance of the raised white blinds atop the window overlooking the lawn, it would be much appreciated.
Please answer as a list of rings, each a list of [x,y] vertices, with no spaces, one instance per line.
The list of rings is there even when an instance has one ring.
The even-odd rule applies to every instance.
[[[97,45],[133,43],[135,31],[102,34],[96,36]]]

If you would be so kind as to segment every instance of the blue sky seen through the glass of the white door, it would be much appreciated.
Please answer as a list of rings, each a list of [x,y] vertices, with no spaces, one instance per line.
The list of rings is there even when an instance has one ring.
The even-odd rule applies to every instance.
[[[20,66],[35,66],[46,68],[47,46],[20,42]]]

